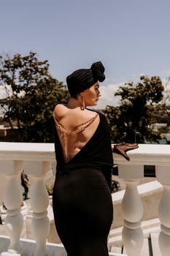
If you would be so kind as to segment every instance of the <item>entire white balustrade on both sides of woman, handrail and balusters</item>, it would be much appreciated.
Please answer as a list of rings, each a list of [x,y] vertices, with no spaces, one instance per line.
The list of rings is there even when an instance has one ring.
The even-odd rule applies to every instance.
[[[128,255],[136,256],[142,248],[143,206],[137,185],[144,178],[144,165],[155,165],[156,178],[163,185],[163,197],[158,211],[161,220],[159,244],[162,255],[170,255],[170,146],[142,144],[134,151],[129,151],[128,155],[131,158],[130,162],[117,154],[114,155],[115,164],[118,165],[118,176],[126,184],[122,202],[122,236],[125,250]],[[20,189],[20,171],[23,169],[34,180],[30,200],[33,210],[32,231],[36,241],[34,255],[47,255],[46,241],[50,221],[47,217],[49,199],[44,177],[52,165],[55,165],[52,143],[0,143],[0,197],[7,207],[5,225],[10,239],[7,252],[2,252],[1,256],[21,255],[19,241],[23,215],[20,214],[20,205],[23,197]]]

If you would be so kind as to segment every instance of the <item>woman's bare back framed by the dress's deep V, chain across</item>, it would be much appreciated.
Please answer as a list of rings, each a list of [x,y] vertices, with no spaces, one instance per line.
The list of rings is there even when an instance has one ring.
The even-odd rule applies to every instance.
[[[95,111],[68,108],[63,104],[55,107],[53,116],[63,148],[63,157],[65,162],[69,162],[93,137],[100,118]]]

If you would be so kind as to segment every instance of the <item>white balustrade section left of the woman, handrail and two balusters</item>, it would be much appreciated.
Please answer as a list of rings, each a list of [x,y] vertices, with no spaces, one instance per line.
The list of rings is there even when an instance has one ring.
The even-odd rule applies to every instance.
[[[32,176],[30,205],[33,211],[32,233],[36,241],[35,256],[47,255],[46,241],[50,232],[47,217],[49,197],[45,187],[45,174],[55,163],[54,145],[51,143],[0,143],[1,201],[7,208],[5,225],[10,239],[7,252],[3,255],[20,255],[20,233],[23,215],[20,206],[23,195],[20,187],[20,172],[25,170]],[[16,253],[16,254],[15,254]]]

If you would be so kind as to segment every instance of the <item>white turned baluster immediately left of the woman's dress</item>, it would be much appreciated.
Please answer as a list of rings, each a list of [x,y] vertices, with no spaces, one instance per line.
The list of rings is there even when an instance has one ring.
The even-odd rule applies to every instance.
[[[33,219],[32,232],[36,241],[35,256],[47,255],[46,241],[50,233],[50,220],[47,217],[49,197],[43,176],[50,170],[50,162],[24,162],[26,173],[34,173],[34,184],[31,186],[31,208]]]

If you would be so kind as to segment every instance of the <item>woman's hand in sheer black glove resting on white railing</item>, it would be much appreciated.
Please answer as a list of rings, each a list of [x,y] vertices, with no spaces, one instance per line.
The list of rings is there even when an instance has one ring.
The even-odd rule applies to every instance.
[[[113,152],[120,154],[121,156],[125,157],[126,160],[130,160],[128,155],[126,154],[127,151],[133,150],[135,148],[139,148],[138,144],[131,144],[131,143],[125,143],[125,144],[117,144],[114,145]]]

